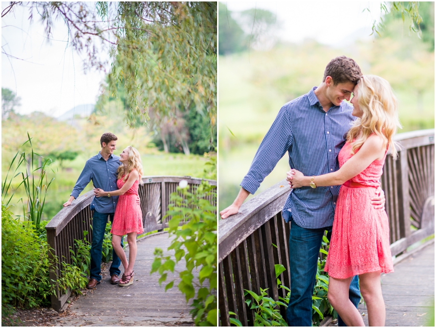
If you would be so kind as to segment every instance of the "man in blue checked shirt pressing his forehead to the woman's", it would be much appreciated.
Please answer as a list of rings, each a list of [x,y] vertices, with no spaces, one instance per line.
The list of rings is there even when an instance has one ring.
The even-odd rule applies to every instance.
[[[266,133],[254,156],[249,172],[241,182],[234,203],[220,212],[224,219],[238,213],[249,193],[260,183],[288,151],[291,168],[307,176],[317,176],[339,169],[337,156],[345,135],[356,119],[350,100],[361,77],[359,66],[345,56],[328,63],[323,82],[299,98],[286,103]],[[299,188],[293,190],[283,207],[282,216],[291,223],[289,238],[291,297],[286,317],[289,326],[311,326],[312,293],[324,231],[329,238],[340,186]],[[372,204],[384,206],[384,196],[373,197]],[[360,301],[358,277],[350,286],[350,300]],[[340,326],[344,326],[339,320]]]

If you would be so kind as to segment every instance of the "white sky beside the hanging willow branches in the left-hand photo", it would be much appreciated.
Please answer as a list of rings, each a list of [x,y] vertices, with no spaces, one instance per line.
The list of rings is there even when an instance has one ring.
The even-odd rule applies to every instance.
[[[2,9],[8,4],[2,2]],[[83,73],[78,53],[65,49],[64,25],[58,23],[54,29],[53,38],[58,41],[49,41],[37,15],[30,25],[27,10],[18,5],[14,10],[15,15],[10,12],[1,20],[1,86],[21,97],[18,112],[59,116],[74,106],[94,104],[105,75]],[[25,61],[8,59],[4,51]]]

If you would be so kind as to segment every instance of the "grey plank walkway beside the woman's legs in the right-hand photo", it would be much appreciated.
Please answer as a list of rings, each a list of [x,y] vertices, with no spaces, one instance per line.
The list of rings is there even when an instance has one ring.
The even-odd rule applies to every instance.
[[[435,311],[435,243],[416,251],[394,265],[394,272],[382,275],[386,306],[386,327],[427,326]],[[368,326],[364,304],[359,312]]]

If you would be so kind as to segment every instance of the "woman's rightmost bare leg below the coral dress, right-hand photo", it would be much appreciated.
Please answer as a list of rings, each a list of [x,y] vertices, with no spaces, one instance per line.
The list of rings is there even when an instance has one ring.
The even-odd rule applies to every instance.
[[[386,321],[385,302],[380,284],[380,271],[359,275],[360,293],[368,310],[368,323],[371,327],[384,327]]]

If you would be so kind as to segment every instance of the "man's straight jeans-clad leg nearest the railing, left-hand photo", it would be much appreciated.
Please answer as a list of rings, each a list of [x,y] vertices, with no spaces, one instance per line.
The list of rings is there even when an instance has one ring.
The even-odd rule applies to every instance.
[[[90,279],[96,279],[97,281],[101,280],[101,249],[108,216],[108,213],[98,213],[96,211],[94,211],[93,214],[93,243],[91,244]]]

